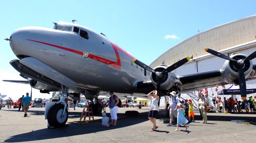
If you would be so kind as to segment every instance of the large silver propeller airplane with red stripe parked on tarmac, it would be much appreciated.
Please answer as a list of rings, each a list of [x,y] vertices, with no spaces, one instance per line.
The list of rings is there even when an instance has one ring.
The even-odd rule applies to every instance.
[[[51,126],[62,126],[68,119],[67,96],[93,100],[113,90],[118,96],[144,97],[157,89],[161,96],[171,91],[199,90],[223,84],[240,85],[246,98],[246,80],[256,79],[252,59],[234,53],[230,57],[211,49],[208,53],[226,59],[220,70],[176,75],[176,68],[190,60],[186,57],[173,65],[159,65],[153,69],[120,48],[103,33],[68,22],[53,22],[53,29],[22,27],[10,38],[10,47],[18,59],[10,61],[26,83],[42,93],[61,91],[61,98],[45,111]],[[12,82],[12,80],[4,80]],[[244,90],[245,89],[245,90]],[[244,93],[245,92],[245,93]],[[101,113],[100,104],[93,105]]]

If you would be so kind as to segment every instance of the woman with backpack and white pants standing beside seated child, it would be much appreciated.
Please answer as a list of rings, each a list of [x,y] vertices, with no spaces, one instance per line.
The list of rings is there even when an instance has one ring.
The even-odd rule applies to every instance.
[[[118,110],[118,103],[119,98],[114,95],[113,91],[109,92],[109,108],[110,108],[110,116],[111,116],[111,124],[112,126],[116,126],[116,120],[117,120],[117,110]]]

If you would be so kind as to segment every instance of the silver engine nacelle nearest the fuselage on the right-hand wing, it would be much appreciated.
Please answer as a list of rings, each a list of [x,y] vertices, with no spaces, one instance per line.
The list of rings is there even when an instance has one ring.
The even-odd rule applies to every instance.
[[[154,70],[156,72],[162,72],[166,69],[167,67],[165,66],[158,66],[155,67]],[[176,80],[176,74],[174,72],[168,72],[165,73],[163,75],[163,78],[160,80],[160,86],[162,90],[169,90],[170,88],[172,88],[172,86],[174,86],[174,84],[177,82]],[[152,73],[151,77],[150,77],[152,83],[154,84],[154,86],[157,86],[158,83],[158,79],[156,78],[156,74]]]

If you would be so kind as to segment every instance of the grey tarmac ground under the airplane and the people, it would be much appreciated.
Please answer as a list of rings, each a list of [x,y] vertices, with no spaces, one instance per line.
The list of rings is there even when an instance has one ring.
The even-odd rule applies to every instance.
[[[78,121],[83,108],[70,108],[68,121]],[[30,108],[28,116],[18,109],[2,108],[0,111],[0,142],[16,143],[172,143],[172,142],[208,142],[208,143],[255,143],[256,114],[208,113],[208,124],[203,124],[200,114],[195,112],[194,123],[188,124],[188,131],[182,125],[180,131],[174,131],[176,125],[168,127],[164,108],[156,118],[157,131],[149,131],[152,123],[148,120],[149,107],[119,108],[118,116],[124,116],[128,110],[136,110],[138,116],[118,119],[117,126],[101,127],[101,121],[87,124],[68,123],[66,127],[50,129],[44,119],[44,108]],[[109,108],[106,108],[110,117]],[[94,116],[100,119],[101,116]],[[87,118],[88,119],[88,118]],[[160,120],[161,119],[161,120]],[[249,124],[234,123],[231,120],[250,120]]]

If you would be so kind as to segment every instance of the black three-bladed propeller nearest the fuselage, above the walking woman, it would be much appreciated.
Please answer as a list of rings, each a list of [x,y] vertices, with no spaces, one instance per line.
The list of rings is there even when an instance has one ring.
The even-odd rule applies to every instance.
[[[137,59],[134,59],[133,62],[136,63],[138,66],[142,67],[143,69],[149,71],[149,72],[156,73],[156,78],[157,78],[157,81],[158,81],[157,86],[156,86],[156,90],[157,90],[158,94],[160,95],[161,94],[161,92],[160,92],[161,91],[160,81],[164,77],[164,74],[177,69],[178,67],[182,66],[183,64],[185,64],[189,60],[190,60],[190,58],[186,57],[186,58],[172,64],[170,67],[166,68],[162,72],[156,72],[154,69],[152,69],[151,67],[149,67],[148,65],[142,63],[141,61],[139,61]]]

